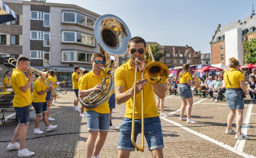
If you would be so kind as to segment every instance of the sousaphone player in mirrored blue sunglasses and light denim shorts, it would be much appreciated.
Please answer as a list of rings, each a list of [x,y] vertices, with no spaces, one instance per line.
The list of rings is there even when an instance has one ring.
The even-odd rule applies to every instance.
[[[93,53],[91,56],[92,70],[85,74],[80,83],[79,97],[85,97],[93,91],[99,91],[104,72],[98,66],[103,66],[103,55]],[[106,81],[108,87],[109,80]],[[89,137],[86,141],[85,157],[98,157],[109,131],[108,100],[97,108],[85,108]]]

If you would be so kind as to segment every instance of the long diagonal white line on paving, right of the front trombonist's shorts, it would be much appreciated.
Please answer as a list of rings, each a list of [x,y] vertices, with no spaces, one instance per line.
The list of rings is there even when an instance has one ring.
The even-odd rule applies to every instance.
[[[248,157],[248,158],[249,158],[249,157],[254,157],[254,158],[255,158],[255,156],[248,155],[248,154],[246,154],[246,153],[237,151],[236,149],[232,148],[231,146],[226,145],[226,144],[224,144],[224,143],[221,143],[221,142],[219,142],[218,140],[215,140],[215,139],[210,138],[209,136],[206,136],[206,135],[204,135],[204,134],[202,134],[202,133],[198,133],[198,132],[196,132],[196,131],[194,131],[194,130],[192,130],[192,129],[189,129],[189,128],[187,128],[187,127],[184,127],[184,126],[181,125],[180,123],[174,122],[174,121],[172,121],[172,120],[166,119],[166,118],[161,117],[161,116],[160,116],[160,118],[163,119],[163,120],[165,120],[165,121],[167,121],[167,122],[170,122],[170,123],[172,123],[172,124],[174,124],[174,125],[176,125],[176,126],[178,126],[178,127],[180,127],[180,128],[182,128],[182,129],[185,129],[186,131],[188,131],[188,132],[190,132],[190,133],[193,133],[194,135],[197,135],[197,136],[199,136],[199,137],[201,137],[201,138],[203,138],[203,139],[205,139],[205,140],[208,140],[208,141],[210,141],[210,142],[212,142],[212,143],[214,143],[214,144],[217,144],[217,145],[219,145],[219,146],[221,146],[221,147],[223,147],[223,148],[225,148],[225,149],[228,149],[228,150],[230,150],[230,151],[232,151],[232,152],[234,152],[234,153],[236,153],[236,154],[238,154],[238,155],[241,155],[241,156],[244,156],[244,157]]]

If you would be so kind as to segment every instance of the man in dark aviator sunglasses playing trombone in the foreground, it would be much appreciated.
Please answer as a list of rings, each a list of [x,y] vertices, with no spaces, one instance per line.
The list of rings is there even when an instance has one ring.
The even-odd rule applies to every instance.
[[[148,142],[148,150],[152,152],[153,157],[163,157],[163,135],[162,126],[158,114],[158,108],[155,103],[154,93],[159,98],[165,97],[164,84],[150,84],[142,79],[142,72],[146,66],[144,55],[146,50],[146,42],[141,37],[133,37],[130,39],[127,48],[130,60],[122,66],[118,67],[115,72],[115,94],[116,103],[126,105],[126,112],[123,123],[120,125],[120,134],[118,142],[118,157],[128,158],[130,151],[135,148],[131,143],[131,127],[133,115],[133,93],[136,88],[136,109],[135,109],[135,133],[134,139],[141,131],[141,89],[144,88],[144,135]],[[135,60],[138,57],[139,60]],[[135,62],[138,62],[138,72],[136,87],[134,87]]]

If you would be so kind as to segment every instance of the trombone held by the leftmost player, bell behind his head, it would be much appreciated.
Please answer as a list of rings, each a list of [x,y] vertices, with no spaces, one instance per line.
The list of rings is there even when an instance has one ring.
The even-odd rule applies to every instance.
[[[12,60],[12,61],[10,61],[10,60]],[[16,62],[16,64],[13,64],[13,62]],[[15,58],[9,58],[9,60],[8,60],[8,63],[9,63],[10,65],[14,66],[14,67],[16,67],[17,62],[18,62],[18,60],[15,59]],[[48,87],[51,87],[51,88],[52,88],[52,93],[55,94],[55,95],[57,95],[58,98],[60,98],[60,96],[57,94],[56,91],[59,91],[61,94],[66,94],[66,93],[67,93],[67,91],[66,91],[65,89],[59,87],[57,84],[53,83],[52,81],[50,81],[50,80],[48,80],[47,78],[44,77],[45,74],[48,73],[48,71],[42,72],[42,71],[40,71],[40,70],[37,70],[37,69],[34,68],[34,67],[28,66],[28,67],[27,67],[27,70],[25,70],[25,72],[30,72],[30,71],[32,71],[34,74],[37,74],[37,75],[40,76],[41,78],[44,78],[44,81],[42,81],[42,80],[40,80],[38,77],[35,77],[35,78],[38,79],[39,81],[41,81],[41,82],[43,82],[44,84],[46,84]],[[57,89],[53,88],[53,87],[52,87],[52,84],[54,84],[54,85],[57,87]],[[58,90],[58,89],[59,89],[59,90]],[[63,90],[64,93],[63,93],[61,90]]]

